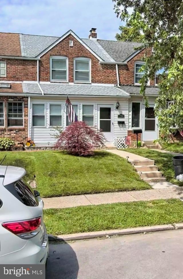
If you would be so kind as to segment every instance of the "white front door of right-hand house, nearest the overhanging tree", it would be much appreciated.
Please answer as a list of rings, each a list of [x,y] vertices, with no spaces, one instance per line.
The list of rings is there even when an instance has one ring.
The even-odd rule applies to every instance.
[[[154,115],[154,105],[148,108],[143,106],[142,140],[155,140],[158,138],[157,119]]]

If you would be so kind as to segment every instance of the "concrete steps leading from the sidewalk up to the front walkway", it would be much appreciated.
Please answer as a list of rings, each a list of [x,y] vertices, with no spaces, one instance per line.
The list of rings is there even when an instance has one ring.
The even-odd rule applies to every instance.
[[[154,160],[134,160],[131,161],[140,178],[146,182],[166,181],[162,172],[158,171],[158,167],[154,165]]]

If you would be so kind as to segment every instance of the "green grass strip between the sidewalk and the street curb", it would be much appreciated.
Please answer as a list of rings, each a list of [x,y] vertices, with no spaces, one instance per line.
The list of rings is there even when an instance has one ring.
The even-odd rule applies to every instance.
[[[44,210],[49,234],[71,234],[183,221],[181,200],[153,200]]]

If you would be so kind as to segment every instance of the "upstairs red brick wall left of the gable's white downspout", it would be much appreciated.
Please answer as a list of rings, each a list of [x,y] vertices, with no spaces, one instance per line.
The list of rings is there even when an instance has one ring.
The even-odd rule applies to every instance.
[[[7,81],[37,81],[37,61],[19,59],[1,59],[6,61]]]

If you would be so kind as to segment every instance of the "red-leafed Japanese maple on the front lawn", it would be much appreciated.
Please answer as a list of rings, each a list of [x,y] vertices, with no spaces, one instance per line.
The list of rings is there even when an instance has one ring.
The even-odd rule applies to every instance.
[[[55,148],[76,156],[92,155],[92,150],[104,147],[103,133],[96,127],[77,121],[68,126],[59,136]]]

